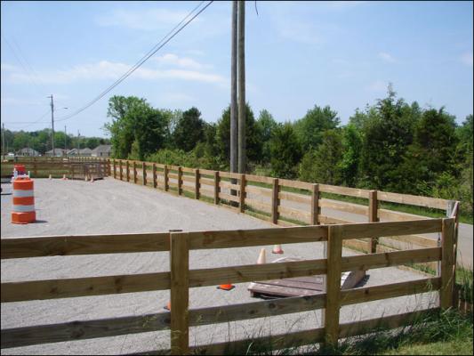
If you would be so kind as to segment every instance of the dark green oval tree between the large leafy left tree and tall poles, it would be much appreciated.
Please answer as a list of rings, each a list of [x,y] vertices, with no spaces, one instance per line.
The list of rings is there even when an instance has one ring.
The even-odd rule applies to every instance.
[[[173,142],[177,149],[193,150],[198,142],[204,140],[205,121],[197,108],[184,111],[173,131]]]

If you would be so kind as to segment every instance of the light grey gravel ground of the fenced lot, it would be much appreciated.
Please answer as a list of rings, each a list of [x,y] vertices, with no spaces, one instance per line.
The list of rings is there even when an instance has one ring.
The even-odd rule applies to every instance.
[[[5,185],[3,185],[5,188]],[[106,179],[98,182],[35,181],[36,217],[39,223],[10,223],[11,196],[2,195],[2,239],[20,236],[62,234],[150,232],[182,229],[233,230],[268,228],[268,223],[229,209],[146,187]],[[322,244],[284,245],[285,256],[322,257]],[[268,262],[279,257],[266,247]],[[255,263],[260,247],[198,250],[190,254],[190,268]],[[354,255],[344,250],[344,255]],[[80,255],[4,260],[2,282],[31,279],[78,278],[111,274],[168,271],[167,253]],[[384,268],[367,271],[366,286],[422,278],[412,271]],[[232,291],[215,287],[190,289],[190,307],[251,303],[248,283]],[[21,303],[2,303],[1,328],[52,324],[73,320],[94,320],[161,312],[169,291],[124,295],[100,295]],[[341,309],[341,321],[366,320],[377,316],[434,306],[436,294],[413,295],[354,304]],[[190,344],[208,344],[269,333],[321,326],[321,312],[301,312],[278,317],[244,320],[190,329]],[[33,345],[2,350],[2,354],[116,354],[144,352],[169,347],[169,331],[115,336],[56,344]]]

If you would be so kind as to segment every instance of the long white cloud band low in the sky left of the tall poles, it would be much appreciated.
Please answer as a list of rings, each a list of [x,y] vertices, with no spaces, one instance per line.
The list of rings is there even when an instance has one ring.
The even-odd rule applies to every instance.
[[[184,61],[185,65],[194,64]],[[38,72],[38,78],[43,83],[68,84],[81,80],[110,79],[121,77],[131,66],[120,62],[99,61],[92,64],[77,65],[72,69]],[[194,69],[136,69],[130,79],[159,80],[159,79],[181,79],[197,81],[216,85],[226,85],[227,79],[218,74],[206,73]],[[21,71],[9,73],[7,79],[12,83],[28,82],[28,76]],[[130,80],[129,79],[129,80]]]

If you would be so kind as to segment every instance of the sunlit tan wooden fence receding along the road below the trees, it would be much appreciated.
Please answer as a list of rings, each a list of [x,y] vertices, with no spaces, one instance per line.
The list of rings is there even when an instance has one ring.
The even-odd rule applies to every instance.
[[[459,204],[452,200],[133,160],[109,159],[108,162],[110,175],[120,181],[201,199],[239,213],[252,214],[280,226],[430,219],[382,208],[383,203],[428,207],[441,211],[446,217],[450,217],[455,209],[453,216],[456,218],[457,247]],[[324,194],[329,198],[323,198]],[[357,198],[360,203],[338,200],[348,197]],[[333,214],[321,214],[321,208],[328,208],[336,213],[349,213],[350,218],[341,219]],[[439,244],[439,236],[436,240],[417,234],[344,241],[345,247],[366,253],[438,247]],[[438,263],[422,265],[431,271],[438,268]]]

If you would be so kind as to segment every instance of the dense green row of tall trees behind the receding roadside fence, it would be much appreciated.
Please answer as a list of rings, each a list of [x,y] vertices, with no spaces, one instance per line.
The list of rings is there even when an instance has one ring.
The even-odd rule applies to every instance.
[[[229,170],[229,107],[214,124],[197,108],[155,109],[114,96],[108,117],[116,158]],[[347,125],[329,106],[277,123],[268,110],[255,119],[248,105],[245,124],[249,173],[460,199],[472,214],[472,115],[456,125],[445,109],[409,104],[389,87]]]

